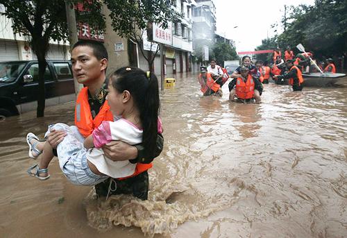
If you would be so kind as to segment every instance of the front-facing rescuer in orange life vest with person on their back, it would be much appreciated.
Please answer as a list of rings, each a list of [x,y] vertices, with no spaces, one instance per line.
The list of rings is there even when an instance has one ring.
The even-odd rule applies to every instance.
[[[245,103],[246,101],[250,101],[254,98],[255,103],[260,103],[262,101],[262,99],[260,99],[260,92],[255,90],[255,80],[251,74],[249,74],[248,67],[242,65],[242,67],[239,68],[239,71],[241,76],[239,78],[234,78],[229,83],[229,100],[242,100]]]

